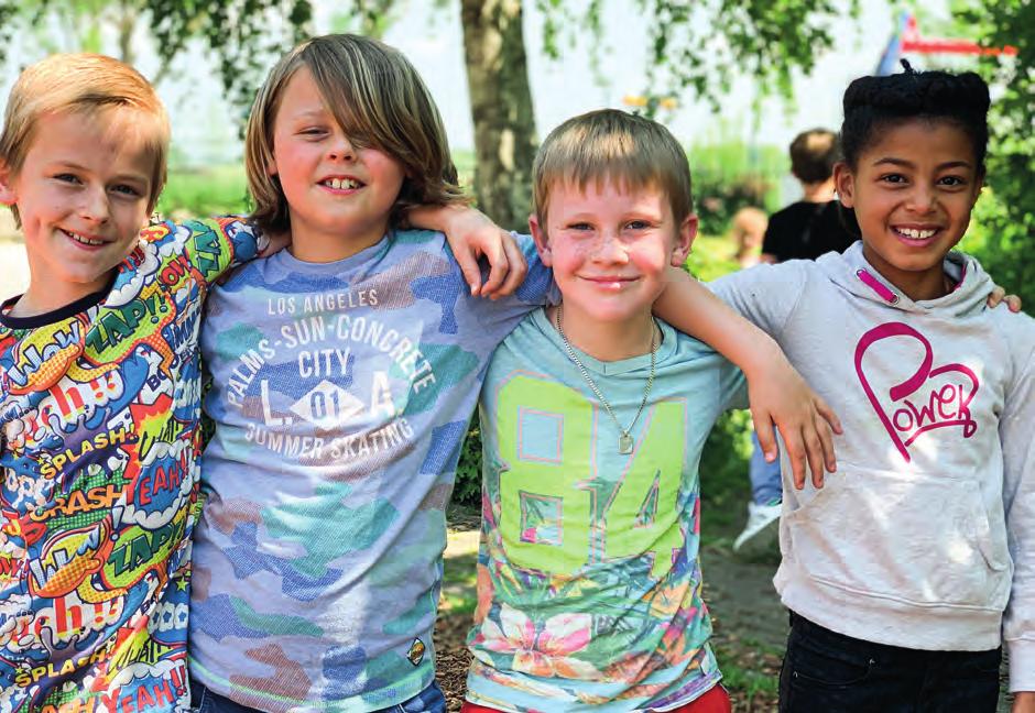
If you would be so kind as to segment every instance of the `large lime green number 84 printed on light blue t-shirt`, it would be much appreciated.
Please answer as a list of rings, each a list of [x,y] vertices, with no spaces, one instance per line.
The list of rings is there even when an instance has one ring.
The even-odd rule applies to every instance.
[[[685,402],[647,407],[623,456],[607,414],[569,386],[518,375],[497,397],[500,459],[509,465],[500,473],[500,531],[510,561],[575,574],[646,556],[651,575],[664,577],[685,542],[676,512]]]

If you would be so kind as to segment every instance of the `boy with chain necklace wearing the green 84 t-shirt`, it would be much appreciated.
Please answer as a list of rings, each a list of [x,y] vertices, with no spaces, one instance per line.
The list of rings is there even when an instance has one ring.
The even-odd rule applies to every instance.
[[[615,110],[555,129],[530,222],[563,300],[481,393],[478,610],[466,711],[728,711],[698,560],[705,438],[744,377],[652,318],[697,230],[686,154]]]

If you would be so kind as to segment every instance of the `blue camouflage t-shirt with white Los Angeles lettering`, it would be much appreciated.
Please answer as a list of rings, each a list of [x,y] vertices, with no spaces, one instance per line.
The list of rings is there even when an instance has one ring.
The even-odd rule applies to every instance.
[[[190,673],[265,711],[372,711],[434,678],[444,508],[492,350],[552,284],[471,297],[438,233],[336,263],[286,251],[217,287],[216,436]]]

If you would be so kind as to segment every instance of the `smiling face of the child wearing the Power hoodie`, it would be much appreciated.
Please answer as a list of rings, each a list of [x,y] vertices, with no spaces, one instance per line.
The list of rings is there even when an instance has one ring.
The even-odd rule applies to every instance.
[[[897,124],[854,171],[839,164],[835,179],[870,264],[914,299],[944,294],[943,259],[967,232],[981,190],[970,138],[944,121]]]

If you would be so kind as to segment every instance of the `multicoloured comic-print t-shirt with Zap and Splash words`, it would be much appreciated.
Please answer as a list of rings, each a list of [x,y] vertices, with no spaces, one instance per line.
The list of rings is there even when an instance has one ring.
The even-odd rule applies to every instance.
[[[0,309],[0,711],[184,711],[198,327],[235,219],[145,229],[110,289]]]

